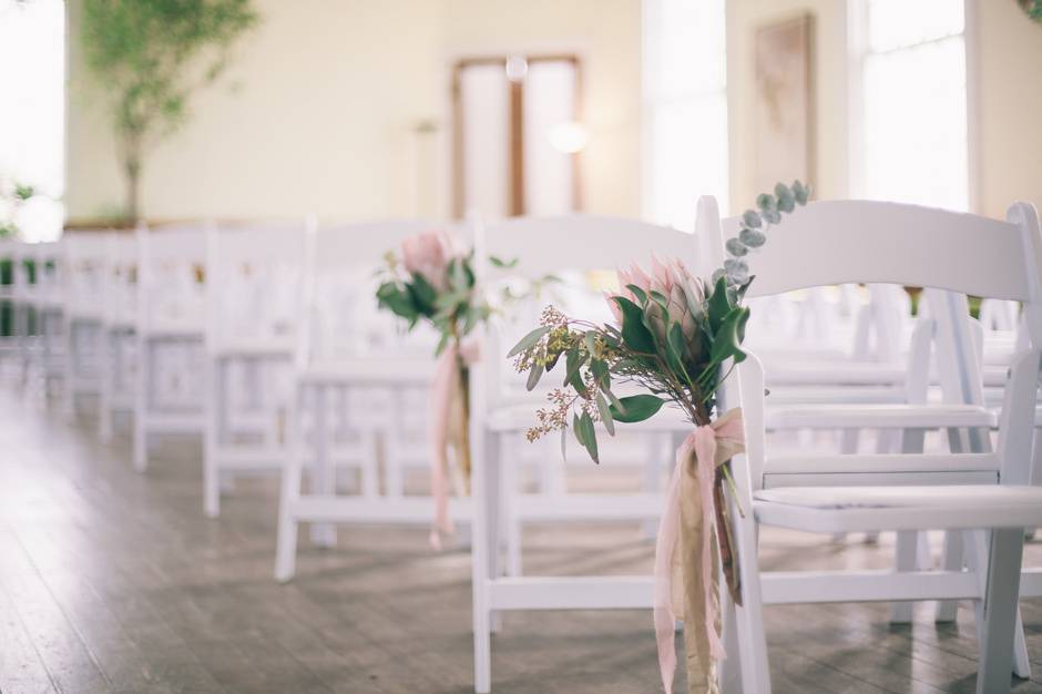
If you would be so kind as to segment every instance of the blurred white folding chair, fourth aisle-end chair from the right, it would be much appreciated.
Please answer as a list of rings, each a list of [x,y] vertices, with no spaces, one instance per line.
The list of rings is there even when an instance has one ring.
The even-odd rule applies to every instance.
[[[303,277],[314,221],[206,234],[206,382],[203,509],[221,510],[222,482],[275,472],[289,371],[300,340]]]

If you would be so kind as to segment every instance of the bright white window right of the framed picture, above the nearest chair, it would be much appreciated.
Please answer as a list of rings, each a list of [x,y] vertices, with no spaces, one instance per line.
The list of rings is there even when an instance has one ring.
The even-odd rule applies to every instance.
[[[854,193],[969,207],[963,0],[854,0]]]

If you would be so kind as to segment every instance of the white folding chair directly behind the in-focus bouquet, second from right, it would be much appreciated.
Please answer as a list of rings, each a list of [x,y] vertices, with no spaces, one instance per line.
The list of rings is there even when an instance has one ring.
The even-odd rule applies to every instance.
[[[502,274],[486,262],[489,256],[518,258],[518,267],[532,277],[562,269],[604,271],[629,266],[634,261],[646,263],[652,253],[662,258],[681,258],[697,268],[697,243],[693,235],[612,217],[515,218],[479,225],[476,248],[479,282],[483,285]],[[502,337],[497,329],[486,330],[484,357],[471,372],[476,692],[489,692],[491,687],[491,631],[500,611],[652,606],[651,576],[504,578],[500,557],[504,520],[517,523],[655,519],[662,508],[661,494],[647,492],[564,497],[510,493],[513,461],[504,456],[504,449],[531,426],[534,408],[541,402],[533,404],[529,394],[519,394],[512,379],[503,378],[500,367],[511,345]],[[523,388],[520,390],[523,392]],[[663,416],[632,429],[668,433],[682,427],[682,422]]]

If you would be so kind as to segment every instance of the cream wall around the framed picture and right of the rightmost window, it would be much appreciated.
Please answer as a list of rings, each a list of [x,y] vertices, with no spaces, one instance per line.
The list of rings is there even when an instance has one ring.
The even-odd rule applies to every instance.
[[[816,22],[816,196],[849,196],[846,2],[844,0],[728,0],[727,79],[734,208],[754,200],[756,28],[809,11]],[[1042,205],[1042,25],[1032,23],[1013,0],[975,0],[970,14],[970,61],[979,65],[971,137],[979,159],[971,169],[975,211],[1004,216],[1014,200]],[[972,195],[971,195],[972,197]]]

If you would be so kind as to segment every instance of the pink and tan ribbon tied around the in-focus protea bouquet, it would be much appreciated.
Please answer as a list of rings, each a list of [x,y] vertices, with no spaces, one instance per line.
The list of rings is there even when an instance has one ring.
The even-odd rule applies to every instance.
[[[699,564],[698,573],[688,575],[687,572],[693,569],[692,557],[685,554],[677,567],[685,589],[681,606],[689,639],[702,641],[701,635],[695,632],[697,627],[694,624],[694,618],[702,613],[709,657],[713,662],[726,657],[724,644],[717,632],[718,596],[714,590],[716,585],[713,545],[716,518],[714,487],[716,468],[744,450],[745,429],[742,410],[736,408],[728,410],[716,421],[692,431],[676,451],[676,467],[666,491],[666,504],[658,523],[658,538],[655,543],[655,637],[658,642],[658,670],[662,673],[662,685],[666,694],[673,692],[673,675],[676,672],[676,651],[673,645],[676,629],[673,563],[678,539],[682,540],[683,547],[694,550]],[[693,465],[688,466],[688,460]],[[697,486],[696,493],[691,493],[694,490],[689,490],[689,484]],[[688,494],[685,494],[684,499],[687,502],[684,508],[688,510],[688,513],[683,513],[681,506],[682,486],[688,487]],[[692,511],[694,518],[689,517]],[[697,525],[701,525],[701,529],[697,529],[701,532],[696,532],[696,537],[688,537]],[[701,581],[698,581],[699,578]],[[692,592],[701,592],[701,595],[692,594]],[[691,649],[688,649],[688,661],[691,660]],[[711,667],[706,666],[704,654],[701,654],[699,661],[703,666],[701,671],[704,673],[703,678],[712,678]],[[692,680],[691,673],[688,680]],[[695,682],[692,681],[691,684],[695,685]]]

